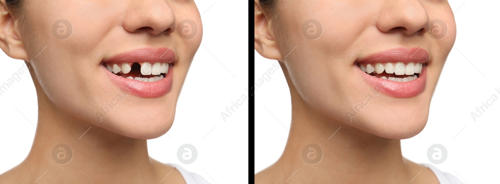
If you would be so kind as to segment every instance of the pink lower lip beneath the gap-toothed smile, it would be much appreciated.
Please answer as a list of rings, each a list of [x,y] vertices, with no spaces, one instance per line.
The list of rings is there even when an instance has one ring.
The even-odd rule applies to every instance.
[[[168,67],[168,72],[164,78],[155,82],[127,79],[109,72],[103,65],[101,65],[101,68],[111,81],[126,93],[143,98],[156,98],[167,94],[172,88],[173,66]]]

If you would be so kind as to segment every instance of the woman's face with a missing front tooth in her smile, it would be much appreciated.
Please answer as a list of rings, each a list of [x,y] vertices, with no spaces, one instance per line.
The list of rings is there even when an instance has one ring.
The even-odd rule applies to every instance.
[[[166,133],[201,42],[193,0],[24,2],[20,37],[58,109],[131,138]]]

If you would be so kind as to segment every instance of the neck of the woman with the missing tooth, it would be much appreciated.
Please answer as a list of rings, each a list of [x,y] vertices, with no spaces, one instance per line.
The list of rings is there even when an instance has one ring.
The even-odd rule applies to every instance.
[[[30,170],[31,178],[38,178],[47,170],[39,180],[55,183],[68,179],[93,183],[158,182],[160,176],[156,175],[153,160],[148,156],[146,140],[104,130],[56,108],[45,95],[37,96],[37,131],[31,151],[21,164]],[[69,146],[72,158],[66,150],[66,158],[62,153],[53,159],[52,150],[59,144]],[[57,163],[68,159],[71,160],[67,164]]]

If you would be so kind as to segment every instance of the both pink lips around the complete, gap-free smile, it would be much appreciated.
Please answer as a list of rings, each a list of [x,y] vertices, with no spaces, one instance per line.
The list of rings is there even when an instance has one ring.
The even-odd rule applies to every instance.
[[[354,65],[357,68],[359,76],[363,80],[374,87],[381,93],[397,97],[397,98],[410,98],[414,97],[423,92],[425,88],[426,75],[427,75],[427,65],[422,65],[422,72],[418,74],[418,78],[409,82],[395,82],[388,79],[381,79],[373,77],[366,72],[361,71],[357,67],[356,63],[383,63],[383,62],[420,62],[426,63],[429,59],[429,54],[426,50],[422,48],[396,48],[391,50],[385,50],[372,54],[368,57],[356,60]]]

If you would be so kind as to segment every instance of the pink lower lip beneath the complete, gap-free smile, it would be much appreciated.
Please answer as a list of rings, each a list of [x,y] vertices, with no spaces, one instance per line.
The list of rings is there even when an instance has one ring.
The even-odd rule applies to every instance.
[[[361,71],[359,67],[357,68],[357,71],[366,83],[383,94],[396,98],[410,98],[423,92],[423,89],[425,88],[427,66],[423,65],[422,72],[418,74],[418,78],[409,82],[396,82],[373,77],[366,72]]]

